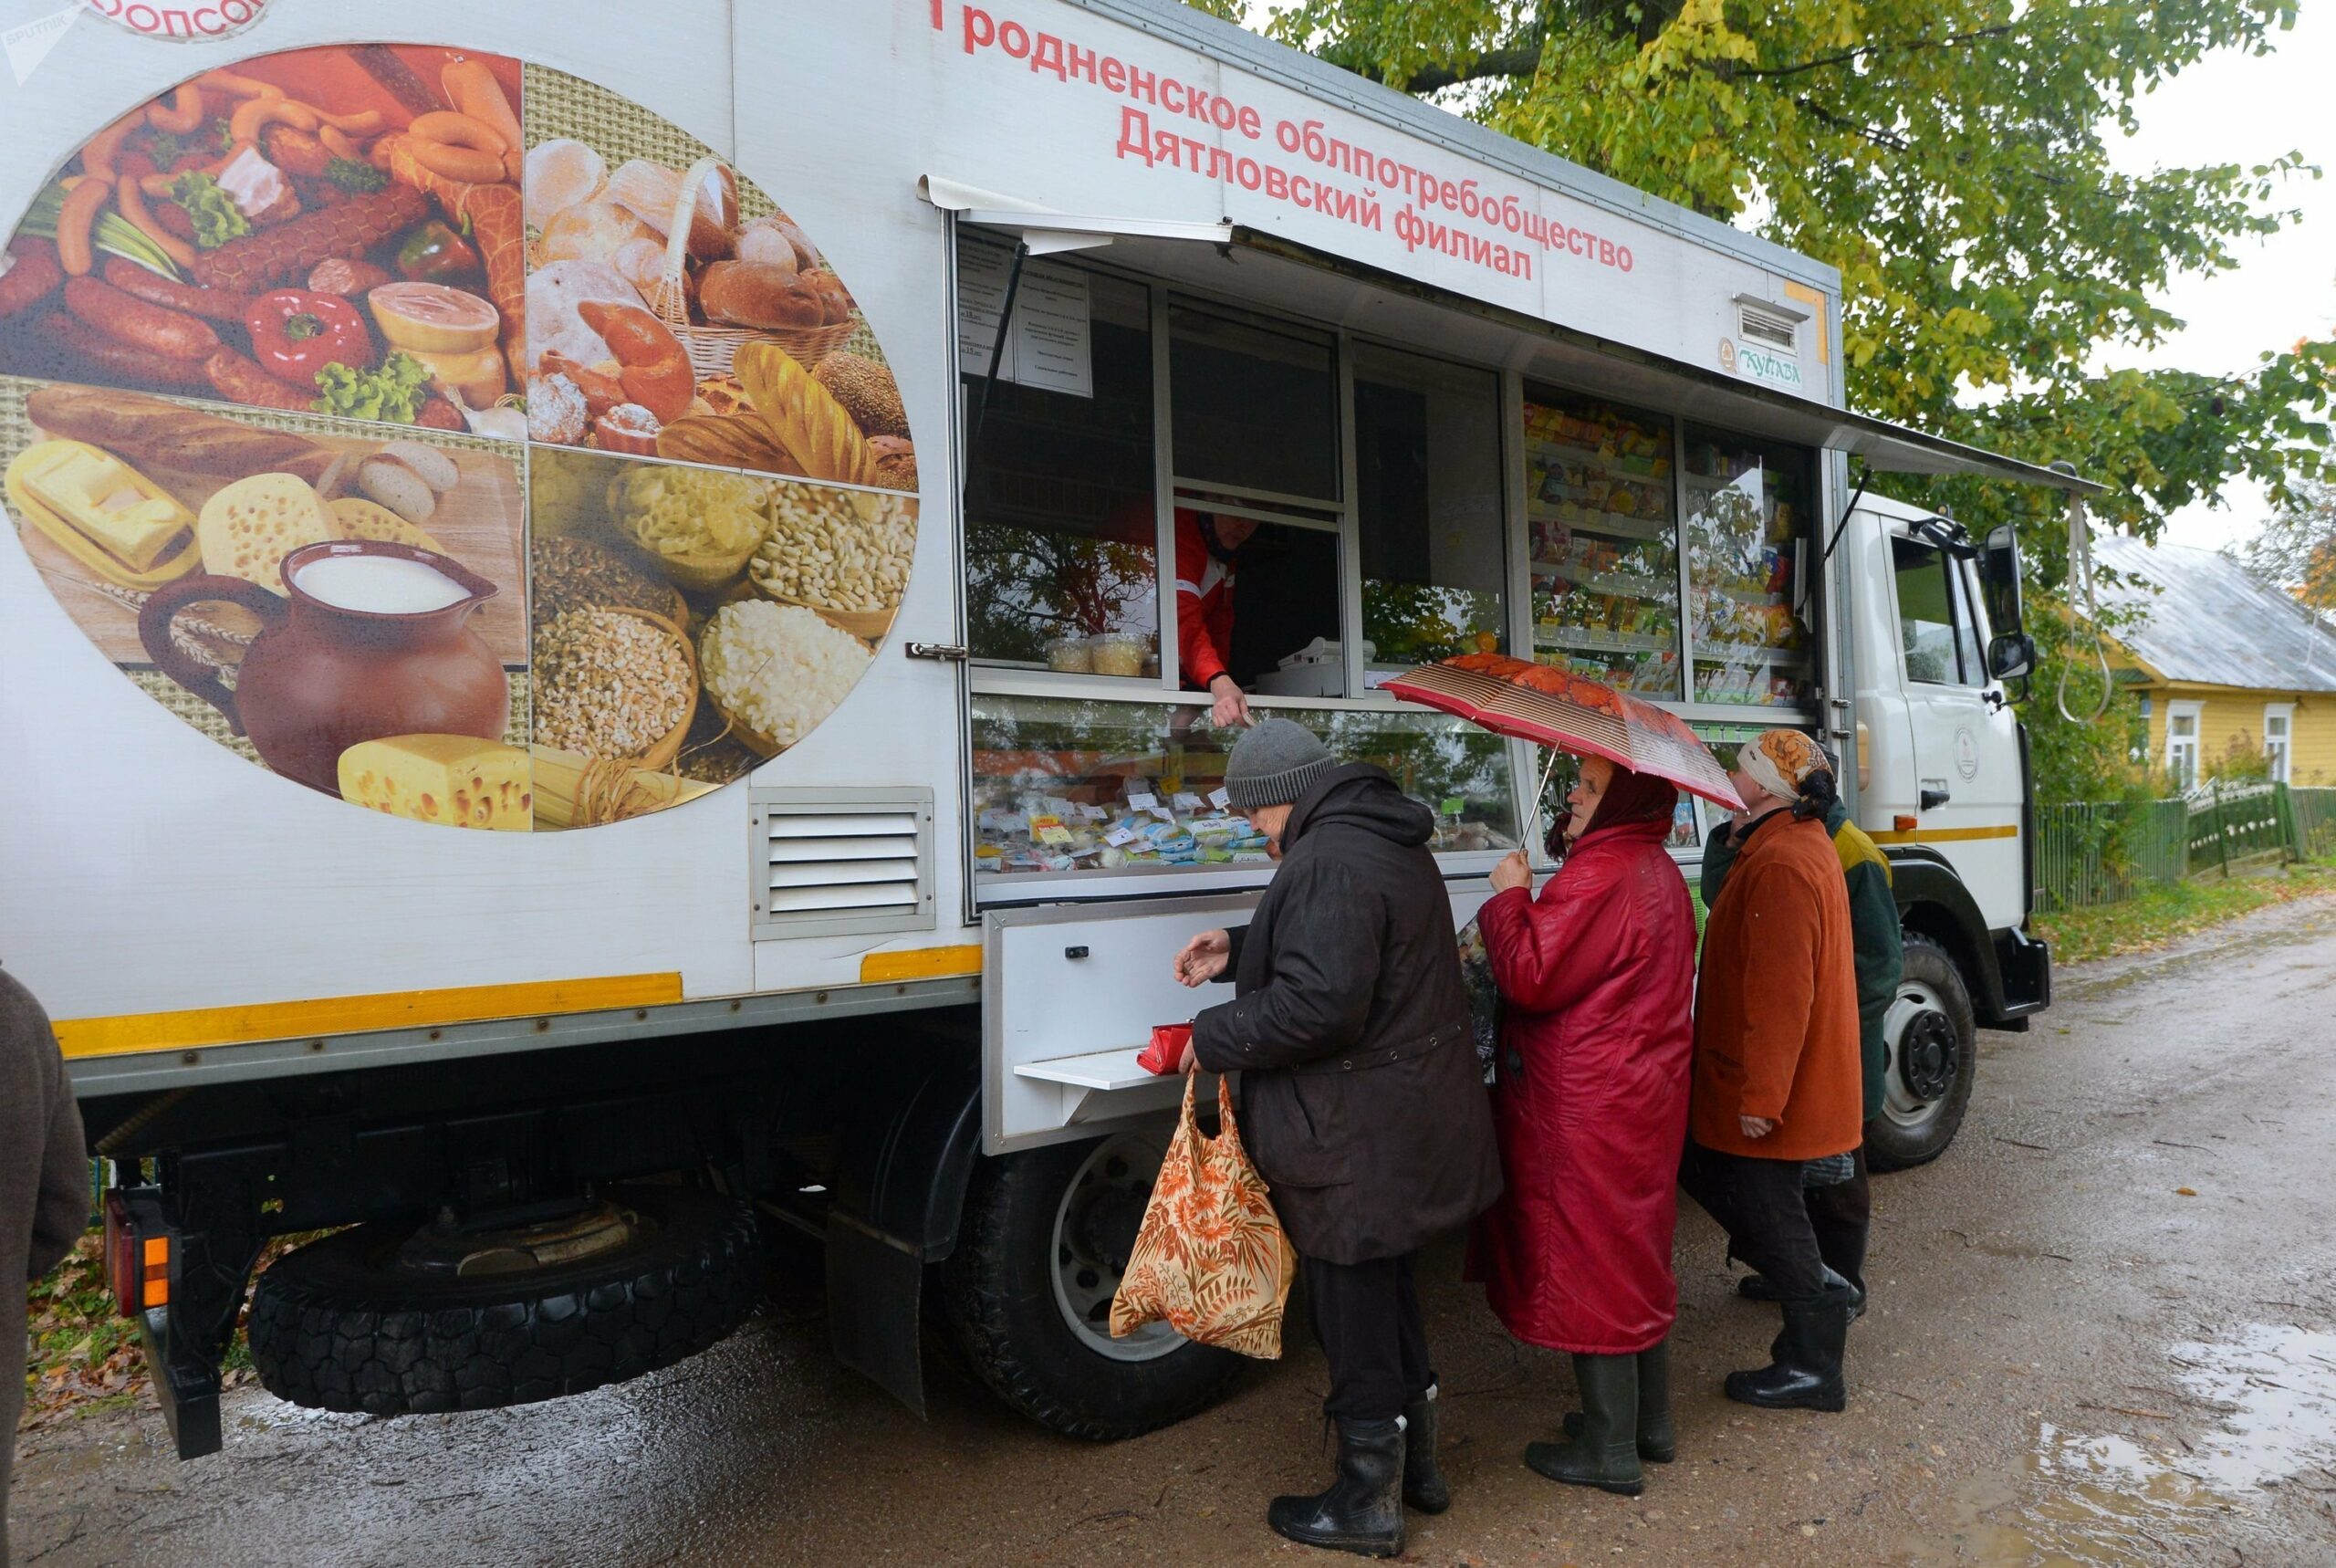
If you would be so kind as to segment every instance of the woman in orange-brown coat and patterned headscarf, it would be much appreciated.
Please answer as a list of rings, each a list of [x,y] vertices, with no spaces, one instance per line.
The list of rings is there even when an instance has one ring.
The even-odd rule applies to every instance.
[[[1820,1260],[1801,1199],[1803,1180],[1857,1147],[1864,1117],[1850,895],[1824,832],[1834,776],[1815,741],[1771,729],[1729,778],[1747,823],[1703,928],[1680,1185],[1785,1309],[1775,1365],[1731,1372],[1726,1395],[1836,1411],[1855,1292]]]

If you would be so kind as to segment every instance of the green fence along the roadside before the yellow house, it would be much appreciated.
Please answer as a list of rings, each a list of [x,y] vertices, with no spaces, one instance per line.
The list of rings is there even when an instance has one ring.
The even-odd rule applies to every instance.
[[[2336,855],[2336,788],[2205,783],[2182,799],[2037,806],[2037,909],[2112,904],[2261,855]]]

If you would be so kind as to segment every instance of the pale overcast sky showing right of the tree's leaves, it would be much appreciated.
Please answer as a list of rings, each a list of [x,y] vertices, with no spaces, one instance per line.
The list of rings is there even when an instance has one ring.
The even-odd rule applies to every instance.
[[[2119,164],[2151,166],[2264,164],[2301,152],[2322,164],[2322,180],[2292,182],[2282,206],[2303,222],[2266,243],[2247,243],[2238,271],[2177,283],[2165,306],[2189,327],[2156,355],[2196,372],[2243,372],[2264,348],[2336,329],[2336,5],[2303,5],[2294,33],[2268,58],[2215,56],[2184,70],[2140,103],[2140,136],[2123,140]],[[2130,358],[2112,362],[2133,362]],[[2264,516],[2259,488],[2236,488],[2226,507],[2175,514],[2168,537],[2222,547],[2247,537]]]

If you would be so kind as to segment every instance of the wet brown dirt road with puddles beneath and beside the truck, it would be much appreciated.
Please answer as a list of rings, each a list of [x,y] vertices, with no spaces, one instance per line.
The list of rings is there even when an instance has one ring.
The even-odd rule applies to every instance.
[[[1680,1463],[1638,1500],[1518,1463],[1570,1395],[1444,1248],[1423,1269],[1458,1500],[1420,1563],[2336,1563],[2336,900],[2065,972],[1981,1035],[1962,1138],[1876,1182],[1843,1416],[1726,1404],[1773,1316],[1680,1227]],[[2189,1189],[2189,1194],[2184,1192]],[[2191,1196],[2194,1194],[2194,1196]],[[472,1416],[227,1404],[180,1465],[154,1414],[28,1435],[16,1552],[98,1563],[1301,1563],[1303,1334],[1219,1409],[1084,1446],[946,1372],[916,1421],[825,1351],[818,1281],[624,1388]]]

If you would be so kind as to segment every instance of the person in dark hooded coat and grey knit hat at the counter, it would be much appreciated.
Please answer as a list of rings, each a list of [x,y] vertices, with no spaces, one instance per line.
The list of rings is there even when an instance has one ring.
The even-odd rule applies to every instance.
[[[1236,984],[1194,1019],[1187,1066],[1240,1073],[1240,1138],[1299,1253],[1339,1423],[1329,1489],[1266,1521],[1395,1556],[1404,1503],[1451,1503],[1413,1255],[1500,1194],[1434,816],[1289,720],[1233,745],[1224,788],[1280,869],[1245,928],[1177,953],[1184,984]]]

